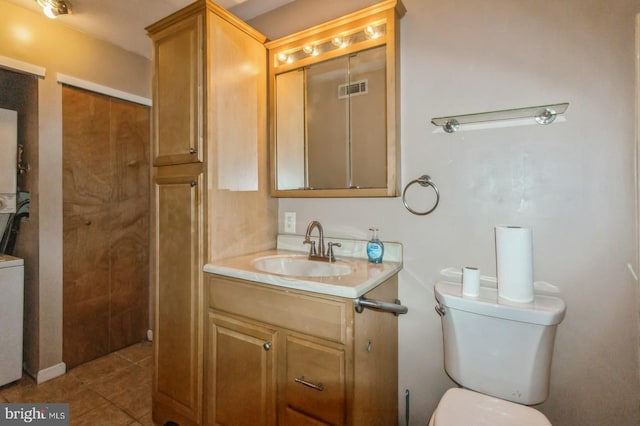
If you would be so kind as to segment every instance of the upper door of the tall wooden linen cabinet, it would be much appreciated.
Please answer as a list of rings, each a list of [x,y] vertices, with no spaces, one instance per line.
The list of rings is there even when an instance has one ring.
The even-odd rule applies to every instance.
[[[202,14],[152,35],[153,164],[202,161]]]

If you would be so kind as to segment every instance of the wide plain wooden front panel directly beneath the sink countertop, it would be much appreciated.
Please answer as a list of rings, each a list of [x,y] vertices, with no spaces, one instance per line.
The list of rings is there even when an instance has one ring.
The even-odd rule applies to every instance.
[[[346,343],[347,301],[206,274],[211,309]]]

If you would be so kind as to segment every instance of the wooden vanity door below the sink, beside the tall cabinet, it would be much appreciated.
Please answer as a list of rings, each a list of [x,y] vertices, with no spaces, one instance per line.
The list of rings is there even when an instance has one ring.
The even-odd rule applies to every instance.
[[[209,313],[210,425],[275,425],[277,333]]]

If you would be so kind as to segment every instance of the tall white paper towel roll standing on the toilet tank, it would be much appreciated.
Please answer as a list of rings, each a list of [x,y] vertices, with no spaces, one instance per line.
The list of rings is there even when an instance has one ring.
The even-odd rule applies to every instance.
[[[533,302],[533,233],[522,226],[496,226],[498,297]]]

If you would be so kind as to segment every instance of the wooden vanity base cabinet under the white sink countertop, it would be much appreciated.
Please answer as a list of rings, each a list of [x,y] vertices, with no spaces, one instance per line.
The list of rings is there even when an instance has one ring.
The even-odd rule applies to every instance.
[[[216,274],[206,296],[206,424],[398,423],[393,314]],[[393,302],[397,275],[366,296]]]

